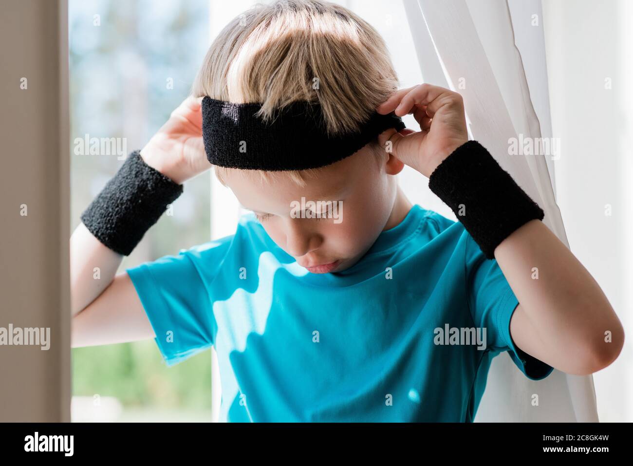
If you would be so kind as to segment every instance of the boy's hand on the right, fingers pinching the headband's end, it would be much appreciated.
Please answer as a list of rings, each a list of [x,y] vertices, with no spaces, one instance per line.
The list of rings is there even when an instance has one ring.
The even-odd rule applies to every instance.
[[[400,89],[376,108],[382,115],[394,110],[397,116],[413,113],[421,130],[388,129],[379,142],[386,148],[391,141],[391,153],[425,177],[468,141],[464,101],[457,92],[431,84]]]

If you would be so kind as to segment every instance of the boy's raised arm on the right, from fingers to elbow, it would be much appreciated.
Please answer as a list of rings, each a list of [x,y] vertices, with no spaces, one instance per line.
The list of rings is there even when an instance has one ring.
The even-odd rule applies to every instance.
[[[387,130],[379,140],[388,152],[427,178],[468,142],[463,98],[449,89],[430,84],[401,89],[376,110],[413,114],[420,123],[420,131]],[[447,191],[464,194],[459,184],[467,181],[451,179],[454,184]],[[512,193],[502,192],[499,197],[506,194]],[[507,199],[499,197],[493,196],[492,203],[498,199],[507,204]],[[486,206],[487,200],[478,199],[475,204]],[[476,211],[477,205],[468,205],[471,214],[473,208]],[[499,216],[497,220],[504,222]],[[503,238],[494,248],[494,258],[520,301],[510,322],[511,337],[520,349],[569,374],[591,374],[617,358],[624,346],[622,324],[596,280],[541,220],[530,220]],[[532,279],[534,267],[538,279]]]

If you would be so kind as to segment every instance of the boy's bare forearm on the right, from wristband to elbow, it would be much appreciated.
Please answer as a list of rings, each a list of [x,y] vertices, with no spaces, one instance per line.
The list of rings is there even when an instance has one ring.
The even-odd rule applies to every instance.
[[[622,349],[624,329],[598,283],[540,220],[502,241],[495,258],[542,341],[558,354],[587,350],[603,365]],[[605,342],[611,332],[611,343]]]

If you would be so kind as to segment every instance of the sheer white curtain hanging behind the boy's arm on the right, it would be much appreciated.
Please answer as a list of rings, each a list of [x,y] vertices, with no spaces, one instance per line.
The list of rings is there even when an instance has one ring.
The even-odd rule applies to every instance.
[[[545,211],[568,246],[550,156],[510,156],[513,137],[551,137],[540,0],[403,0],[423,82],[460,92],[469,133]],[[533,394],[539,405],[533,406]],[[598,422],[591,375],[530,381],[494,358],[476,422]]]

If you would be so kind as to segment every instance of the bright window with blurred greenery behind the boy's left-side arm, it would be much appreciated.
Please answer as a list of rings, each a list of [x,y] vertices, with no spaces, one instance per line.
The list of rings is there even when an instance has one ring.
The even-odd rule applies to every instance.
[[[71,231],[123,158],[189,94],[209,45],[209,9],[207,0],[70,0]],[[113,144],[91,154],[92,138]],[[209,175],[185,182],[118,273],[210,239]],[[72,420],[209,421],[210,361],[204,351],[168,368],[151,339],[74,348]]]

